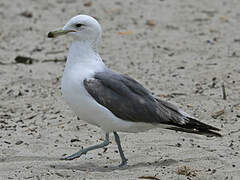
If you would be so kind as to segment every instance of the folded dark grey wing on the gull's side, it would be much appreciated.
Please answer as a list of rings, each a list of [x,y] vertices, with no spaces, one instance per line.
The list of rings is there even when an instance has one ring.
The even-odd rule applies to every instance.
[[[162,124],[188,121],[174,105],[156,99],[129,76],[108,70],[85,79],[84,86],[99,104],[123,120]]]

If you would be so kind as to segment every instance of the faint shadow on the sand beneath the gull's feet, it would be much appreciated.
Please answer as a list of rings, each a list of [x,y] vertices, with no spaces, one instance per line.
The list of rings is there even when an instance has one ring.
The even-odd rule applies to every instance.
[[[55,164],[50,165],[51,168],[55,169],[68,169],[68,170],[79,170],[79,171],[88,171],[88,172],[111,172],[115,170],[126,170],[126,169],[133,169],[133,168],[139,168],[139,167],[146,167],[146,166],[157,166],[157,167],[163,167],[163,166],[170,166],[172,164],[178,163],[178,161],[174,159],[165,159],[160,161],[154,161],[154,162],[139,162],[137,164],[133,165],[126,165],[123,167],[119,166],[98,166],[94,163],[84,163],[84,164],[78,164],[78,165],[72,165],[72,164]]]

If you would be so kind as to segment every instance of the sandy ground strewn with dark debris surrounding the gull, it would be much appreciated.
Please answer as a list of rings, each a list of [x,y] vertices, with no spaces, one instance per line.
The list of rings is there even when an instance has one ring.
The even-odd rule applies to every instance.
[[[0,179],[239,179],[239,10],[238,0],[1,0]],[[58,160],[104,137],[61,96],[71,39],[46,37],[79,13],[102,24],[108,67],[221,128],[223,138],[120,133],[125,169],[104,168],[120,163],[112,136],[105,151]],[[32,59],[16,63],[20,56]]]

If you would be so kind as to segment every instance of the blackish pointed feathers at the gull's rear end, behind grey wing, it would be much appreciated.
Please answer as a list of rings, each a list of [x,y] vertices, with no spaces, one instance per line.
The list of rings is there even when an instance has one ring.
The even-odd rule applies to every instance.
[[[213,127],[211,125],[202,123],[191,117],[187,117],[187,119],[188,121],[186,122],[186,124],[174,124],[175,126],[168,127],[167,129],[182,131],[186,133],[200,134],[200,135],[205,135],[209,137],[212,137],[212,136],[222,137],[220,133],[215,132],[215,131],[220,131],[220,129]]]

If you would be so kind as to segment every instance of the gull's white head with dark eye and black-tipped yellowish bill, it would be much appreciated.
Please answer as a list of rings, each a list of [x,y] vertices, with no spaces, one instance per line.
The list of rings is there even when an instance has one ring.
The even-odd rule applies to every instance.
[[[49,38],[55,38],[59,35],[71,35],[74,41],[98,45],[102,33],[100,24],[91,16],[77,15],[71,18],[65,26],[56,31],[48,33]]]

